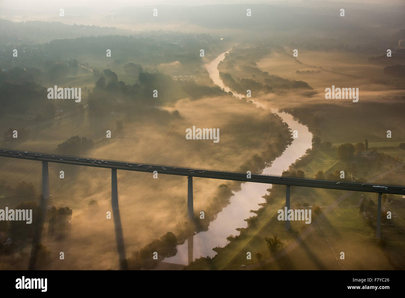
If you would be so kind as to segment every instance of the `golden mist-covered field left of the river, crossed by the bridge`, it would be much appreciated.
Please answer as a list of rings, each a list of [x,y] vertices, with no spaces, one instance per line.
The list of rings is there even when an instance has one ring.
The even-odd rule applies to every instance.
[[[275,146],[273,151],[280,146],[279,139],[275,138],[279,133],[285,134],[286,139],[290,137],[290,132],[283,127],[278,116],[264,110],[258,113],[254,106],[231,97],[221,97],[224,105],[218,108],[215,105],[217,100],[183,99],[174,107],[179,111],[180,118],[173,118],[161,125],[158,119],[148,120],[145,116],[134,119],[132,123],[126,122],[124,132],[119,133],[115,133],[115,121],[122,118],[119,113],[107,115],[101,120],[92,118],[86,112],[84,115],[77,114],[53,122],[49,127],[33,129],[32,138],[26,141],[19,141],[17,144],[13,141],[3,142],[1,146],[55,152],[58,144],[73,135],[79,135],[96,143],[94,149],[85,154],[88,157],[238,170],[244,163],[249,164],[255,154],[266,151],[268,146]],[[190,111],[200,113],[190,114]],[[249,113],[255,116],[249,117]],[[249,120],[252,118],[255,120]],[[95,125],[96,123],[98,124]],[[201,140],[196,144],[197,141],[190,142],[185,139],[185,129],[193,125],[220,128],[221,146],[216,146],[212,140]],[[255,129],[258,125],[261,126],[260,130]],[[105,138],[105,131],[108,129],[112,131],[111,139]],[[255,134],[252,134],[252,129],[255,129]],[[282,148],[279,150],[278,154]],[[227,158],[222,159],[223,156]],[[240,156],[244,156],[245,160],[242,161]],[[269,160],[275,157],[269,153],[267,155]],[[65,172],[64,179],[59,178],[61,170]],[[0,161],[0,181],[11,184],[12,187],[18,182],[32,182],[38,194],[41,189],[40,173],[41,164],[34,161]],[[114,255],[115,242],[106,241],[109,237],[114,237],[113,222],[105,219],[105,212],[111,210],[110,171],[50,163],[49,183],[52,195],[49,204],[57,207],[68,206],[73,210],[72,239],[59,243],[58,247],[55,247],[55,243],[46,245],[55,251],[61,247],[69,251],[71,247],[77,253]],[[218,187],[223,183],[227,182],[195,179],[194,210],[209,212],[214,198],[221,196]],[[148,174],[118,171],[118,185],[128,254],[155,239],[156,235],[183,229],[182,223],[187,212],[187,181],[183,177],[159,174],[158,179],[152,179]],[[229,186],[234,187],[234,184]],[[98,211],[90,216],[88,204],[92,199],[98,202]],[[226,198],[221,198],[224,199]],[[18,202],[8,203],[13,206]],[[117,266],[113,258],[111,262],[107,261],[107,258],[101,263],[94,262],[94,259],[92,261],[91,256],[87,258],[90,259],[86,261],[86,266],[94,269]],[[69,268],[79,266],[76,262],[80,263],[80,258],[69,263]]]

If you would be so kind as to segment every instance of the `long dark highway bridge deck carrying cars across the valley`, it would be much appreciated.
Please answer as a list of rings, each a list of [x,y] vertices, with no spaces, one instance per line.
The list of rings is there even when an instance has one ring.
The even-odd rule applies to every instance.
[[[235,180],[244,182],[257,182],[267,184],[282,184],[288,186],[314,187],[324,189],[339,189],[345,191],[363,191],[370,193],[390,193],[405,195],[405,186],[392,184],[344,182],[335,180],[316,180],[312,178],[294,178],[279,175],[253,174],[247,178],[247,173],[232,172],[212,169],[199,169],[173,165],[156,165],[151,163],[139,163],[132,161],[115,161],[90,157],[66,156],[60,154],[30,152],[15,149],[0,148],[0,157],[27,159],[33,161],[47,161],[52,163],[64,163],[69,165],[84,165],[87,167],[103,167],[126,171],[148,172],[157,171],[159,174],[191,176],[200,178],[212,178],[223,180]]]

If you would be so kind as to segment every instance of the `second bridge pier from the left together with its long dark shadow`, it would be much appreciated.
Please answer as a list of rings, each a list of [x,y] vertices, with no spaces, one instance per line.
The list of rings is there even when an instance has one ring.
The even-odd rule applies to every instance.
[[[113,208],[115,240],[117,241],[119,266],[121,270],[126,270],[128,268],[125,255],[124,236],[122,234],[121,217],[119,216],[118,208],[117,169],[111,169],[111,206]]]

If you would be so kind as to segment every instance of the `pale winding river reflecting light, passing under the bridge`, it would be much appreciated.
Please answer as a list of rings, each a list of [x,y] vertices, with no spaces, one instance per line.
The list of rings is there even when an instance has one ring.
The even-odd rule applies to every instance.
[[[220,79],[218,64],[224,60],[224,52],[211,63],[206,65],[207,71],[213,82],[224,88],[226,92],[232,91],[224,86]],[[234,96],[242,98],[242,94],[233,93]],[[262,103],[253,101],[258,107],[268,108]],[[308,127],[295,121],[292,115],[281,113],[275,109],[271,111],[279,115],[286,122],[291,131],[298,131],[298,138],[292,141],[292,144],[284,150],[280,157],[277,157],[270,167],[263,170],[263,174],[281,175],[283,170],[305,154],[307,148],[312,147],[312,134],[308,131]],[[257,210],[258,204],[264,203],[263,195],[267,194],[267,189],[271,188],[271,184],[246,182],[241,184],[241,190],[233,192],[234,195],[230,198],[230,204],[218,213],[217,218],[212,221],[205,232],[200,232],[194,237],[190,237],[183,244],[177,246],[177,254],[174,257],[164,259],[164,262],[187,265],[191,260],[199,257],[214,257],[216,252],[214,247],[224,247],[229,235],[239,235],[236,230],[238,227],[247,227],[247,222],[244,219],[254,216],[250,210]]]

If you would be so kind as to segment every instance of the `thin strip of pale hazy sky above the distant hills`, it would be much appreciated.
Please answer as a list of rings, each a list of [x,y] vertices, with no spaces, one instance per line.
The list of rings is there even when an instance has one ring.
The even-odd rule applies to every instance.
[[[294,3],[301,0],[0,0],[0,7],[15,9],[49,9],[51,7],[99,7],[117,9],[126,6],[146,6],[157,4],[169,5],[204,5],[204,4],[252,4],[252,3]],[[330,2],[341,2],[332,0]],[[402,4],[405,0],[347,0],[346,2],[373,3],[373,4]]]

